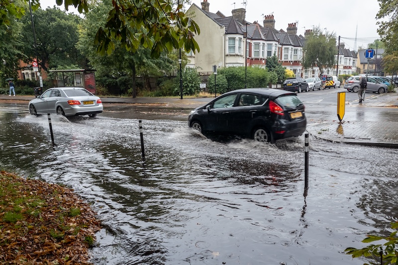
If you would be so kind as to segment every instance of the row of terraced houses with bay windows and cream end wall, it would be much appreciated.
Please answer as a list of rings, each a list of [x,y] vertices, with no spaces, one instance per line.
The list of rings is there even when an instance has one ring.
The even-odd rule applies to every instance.
[[[203,0],[201,8],[192,4],[187,15],[200,27],[196,40],[200,47],[197,54],[188,54],[189,67],[200,72],[211,72],[212,66],[265,67],[269,57],[277,56],[287,69],[302,76],[302,46],[304,37],[297,35],[297,24],[290,23],[287,30],[275,29],[273,15],[264,17],[263,24],[246,21],[244,8],[232,10],[232,16],[221,12],[211,13],[210,3]]]

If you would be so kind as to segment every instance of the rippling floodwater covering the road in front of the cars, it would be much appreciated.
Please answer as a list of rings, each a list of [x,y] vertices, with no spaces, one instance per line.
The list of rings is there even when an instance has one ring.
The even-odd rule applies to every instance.
[[[303,136],[213,141],[186,119],[143,119],[143,162],[135,114],[52,115],[53,148],[46,116],[0,105],[1,166],[92,205],[94,264],[362,265],[344,249],[397,220],[395,149],[310,139],[304,197]]]

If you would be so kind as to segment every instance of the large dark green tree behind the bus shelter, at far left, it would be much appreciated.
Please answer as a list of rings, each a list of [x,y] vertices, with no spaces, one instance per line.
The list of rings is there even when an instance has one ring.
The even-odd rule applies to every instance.
[[[33,21],[36,32],[36,49],[34,47],[33,31],[30,13],[21,21],[22,39],[24,42],[22,52],[26,56],[25,62],[36,58],[42,69],[47,71],[47,66],[57,68],[59,65],[79,65],[85,67],[85,57],[76,49],[79,40],[78,24],[81,18],[75,14],[66,13],[58,7],[37,9],[34,11]]]

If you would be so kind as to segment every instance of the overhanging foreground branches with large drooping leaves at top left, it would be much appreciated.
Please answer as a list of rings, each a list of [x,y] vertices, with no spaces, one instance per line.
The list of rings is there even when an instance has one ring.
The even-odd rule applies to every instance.
[[[66,10],[70,5],[74,5],[80,13],[89,12],[87,0],[56,2],[58,5],[64,3]],[[99,1],[93,0],[94,4],[97,2]],[[38,6],[39,0],[32,0],[32,8]],[[0,7],[0,24],[9,23],[7,19],[2,18],[7,12],[20,17],[25,13],[25,8],[11,0],[1,0]],[[135,34],[137,32],[140,34]],[[107,12],[107,22],[97,30],[95,43],[102,55],[110,54],[117,44],[132,52],[140,46],[150,48],[151,56],[158,58],[162,51],[172,51],[176,48],[184,48],[187,52],[192,50],[194,53],[199,51],[199,45],[194,39],[195,34],[200,34],[199,26],[185,15],[183,3],[176,6],[172,0],[112,1],[112,6]]]

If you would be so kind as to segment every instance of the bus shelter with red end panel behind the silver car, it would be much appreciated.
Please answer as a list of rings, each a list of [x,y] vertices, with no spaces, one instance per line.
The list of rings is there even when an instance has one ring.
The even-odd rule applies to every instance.
[[[56,87],[86,88],[93,94],[96,94],[95,70],[49,70],[49,72],[55,73],[55,80],[53,82]]]

